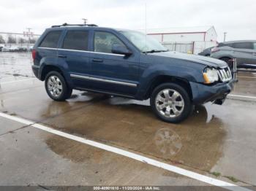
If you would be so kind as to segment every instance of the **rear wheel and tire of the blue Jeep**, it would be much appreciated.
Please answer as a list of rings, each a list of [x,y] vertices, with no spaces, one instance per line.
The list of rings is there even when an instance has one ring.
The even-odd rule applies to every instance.
[[[72,95],[72,89],[58,71],[50,71],[46,75],[45,90],[54,101],[64,101]]]

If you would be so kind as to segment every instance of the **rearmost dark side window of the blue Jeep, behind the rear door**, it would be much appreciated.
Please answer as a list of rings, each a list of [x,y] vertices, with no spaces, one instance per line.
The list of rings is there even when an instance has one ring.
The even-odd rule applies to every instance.
[[[61,36],[61,31],[50,31],[45,39],[42,40],[39,47],[51,47],[56,48],[59,41],[59,36]]]

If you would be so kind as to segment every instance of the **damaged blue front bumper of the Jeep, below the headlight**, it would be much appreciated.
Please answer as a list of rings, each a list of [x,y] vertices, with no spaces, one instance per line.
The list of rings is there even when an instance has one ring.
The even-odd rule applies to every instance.
[[[214,104],[223,104],[227,94],[233,90],[234,81],[217,84],[203,85],[196,82],[189,82],[192,90],[192,101],[194,104],[204,104],[214,102]]]

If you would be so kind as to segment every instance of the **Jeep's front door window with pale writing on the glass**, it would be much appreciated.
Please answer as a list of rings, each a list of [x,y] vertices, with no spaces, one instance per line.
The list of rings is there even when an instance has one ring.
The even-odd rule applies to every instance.
[[[123,45],[123,42],[119,40],[115,35],[107,32],[95,32],[94,33],[94,51],[111,53],[113,44]]]

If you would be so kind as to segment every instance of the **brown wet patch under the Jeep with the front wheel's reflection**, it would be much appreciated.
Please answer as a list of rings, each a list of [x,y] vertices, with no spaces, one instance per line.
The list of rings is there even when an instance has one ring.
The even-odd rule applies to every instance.
[[[80,100],[79,96],[75,100]],[[47,123],[88,139],[201,170],[211,169],[222,156],[225,124],[211,114],[211,105],[197,106],[187,120],[170,124],[157,119],[146,101],[91,96],[93,99],[86,106],[62,113]],[[82,105],[79,101],[68,102],[69,106]]]

